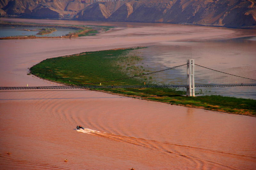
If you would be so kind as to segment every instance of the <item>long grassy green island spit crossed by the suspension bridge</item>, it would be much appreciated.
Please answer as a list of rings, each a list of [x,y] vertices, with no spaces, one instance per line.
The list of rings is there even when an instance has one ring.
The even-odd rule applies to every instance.
[[[164,102],[173,105],[196,107],[206,110],[215,110],[232,114],[256,116],[256,100],[219,95],[186,97],[185,91],[177,88],[112,88],[115,81],[110,82],[110,88],[92,88],[97,83],[116,80],[125,85],[122,78],[143,75],[151,72],[150,68],[140,66],[143,57],[137,55],[137,48],[122,48],[104,51],[84,52],[49,58],[30,68],[30,73],[50,81],[66,85],[85,85],[91,90],[108,92],[143,100]],[[154,77],[132,79],[133,84],[150,82]],[[96,82],[96,83],[95,83]],[[100,83],[101,84],[101,83]],[[95,86],[96,87],[96,86]]]

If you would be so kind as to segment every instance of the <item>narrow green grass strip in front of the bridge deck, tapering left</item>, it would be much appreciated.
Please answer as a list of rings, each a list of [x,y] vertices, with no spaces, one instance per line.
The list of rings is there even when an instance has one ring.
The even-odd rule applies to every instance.
[[[185,91],[179,91],[175,88],[110,88],[97,90],[174,105],[256,116],[256,100],[253,99],[220,95],[187,97]]]

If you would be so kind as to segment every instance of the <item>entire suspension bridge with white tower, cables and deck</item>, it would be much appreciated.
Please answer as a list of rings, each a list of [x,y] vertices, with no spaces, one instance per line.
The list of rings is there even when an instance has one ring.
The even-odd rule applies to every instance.
[[[143,68],[142,66],[140,67]],[[126,78],[79,85],[0,87],[0,90],[182,87],[187,88],[187,96],[195,96],[196,87],[256,86],[255,79],[210,69],[195,64],[194,59],[187,59],[185,64],[164,70],[156,70],[149,73],[139,73],[139,71],[134,76]],[[143,69],[142,71],[146,70]]]

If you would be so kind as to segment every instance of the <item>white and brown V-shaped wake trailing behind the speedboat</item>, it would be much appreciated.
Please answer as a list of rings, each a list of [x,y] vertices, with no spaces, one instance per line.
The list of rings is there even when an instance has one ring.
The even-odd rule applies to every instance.
[[[226,169],[226,168],[228,168],[228,169],[243,168],[243,167],[230,166],[230,164],[223,161],[223,160],[227,159],[227,157],[232,157],[237,160],[248,159],[250,161],[252,161],[252,159],[253,160],[256,159],[255,157],[251,157],[251,156],[227,153],[227,152],[222,152],[222,151],[215,151],[215,150],[211,150],[211,149],[192,147],[192,146],[186,146],[186,145],[180,145],[180,144],[171,144],[168,142],[159,142],[159,141],[147,140],[147,139],[143,139],[143,138],[115,135],[115,134],[100,132],[97,130],[92,130],[89,128],[76,129],[76,131],[86,133],[86,134],[91,134],[91,135],[97,135],[100,137],[105,137],[105,138],[112,139],[112,140],[119,141],[119,142],[142,146],[142,147],[145,147],[148,149],[153,149],[153,150],[167,153],[170,155],[176,155],[176,156],[180,157],[181,159],[187,159],[188,161],[195,163],[197,165],[197,167],[200,169],[206,168],[205,166],[207,166],[209,164],[213,165],[215,167],[217,166],[219,168],[224,168],[224,169]],[[217,155],[217,157],[219,159],[212,160],[212,154]]]

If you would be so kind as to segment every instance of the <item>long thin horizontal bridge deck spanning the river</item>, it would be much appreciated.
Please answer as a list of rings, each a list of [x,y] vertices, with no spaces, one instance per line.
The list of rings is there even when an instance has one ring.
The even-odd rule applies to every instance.
[[[256,84],[196,84],[195,87],[218,87],[218,86],[256,86]],[[60,86],[34,86],[34,87],[0,87],[0,90],[20,90],[20,89],[84,89],[84,88],[147,88],[147,87],[188,87],[188,85],[127,85],[118,86],[111,85],[87,85],[87,86],[70,86],[70,85],[60,85]]]

